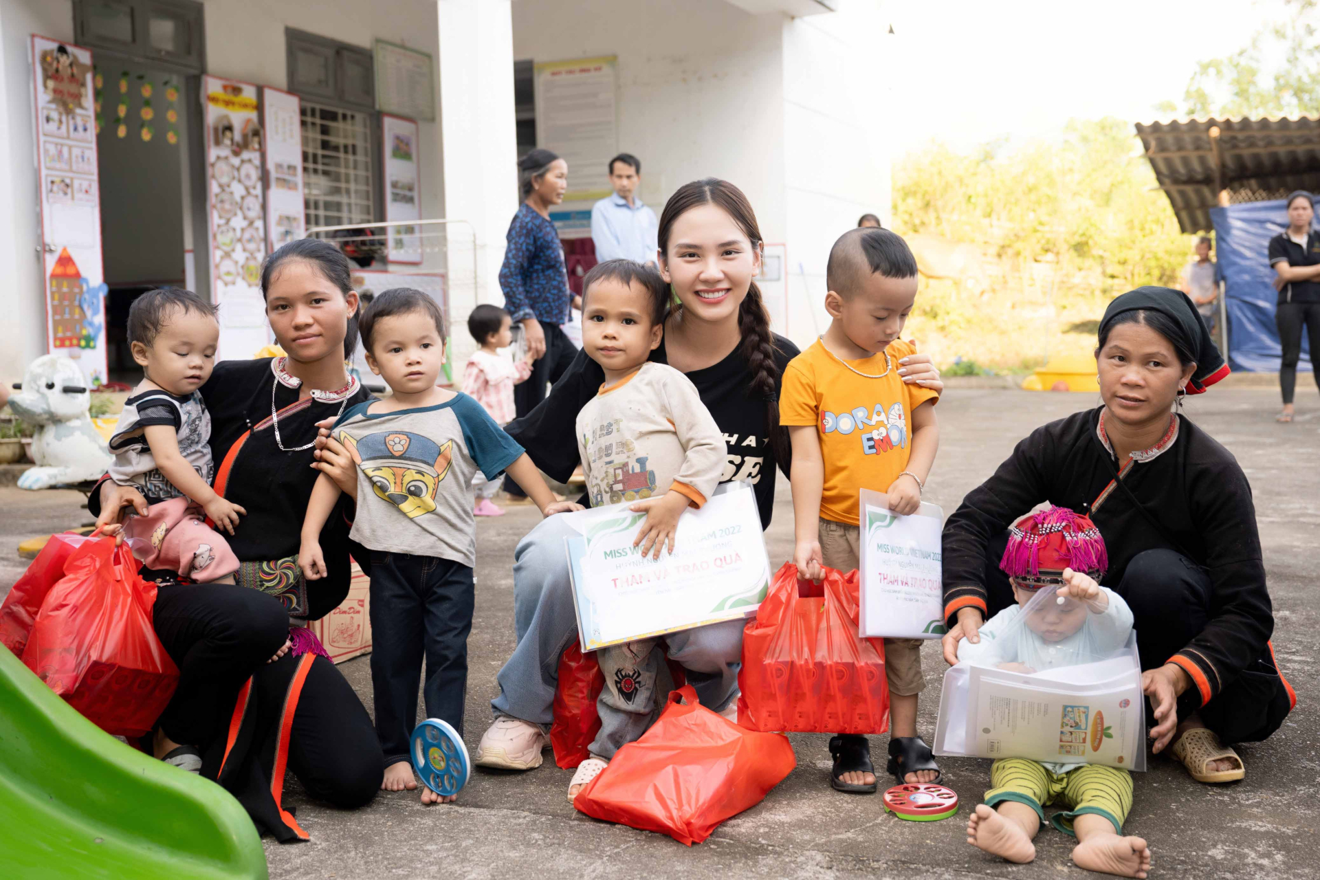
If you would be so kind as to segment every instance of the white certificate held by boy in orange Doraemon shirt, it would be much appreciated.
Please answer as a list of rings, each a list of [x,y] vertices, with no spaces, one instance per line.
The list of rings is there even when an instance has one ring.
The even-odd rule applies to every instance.
[[[862,489],[861,611],[866,639],[939,639],[944,635],[940,532],[944,511],[923,504],[916,513],[890,513],[883,492]]]

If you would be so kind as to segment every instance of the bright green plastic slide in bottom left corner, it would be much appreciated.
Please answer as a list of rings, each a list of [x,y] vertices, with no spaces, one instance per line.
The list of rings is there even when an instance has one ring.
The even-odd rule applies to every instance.
[[[0,646],[0,876],[268,875],[228,792],[103,732]]]

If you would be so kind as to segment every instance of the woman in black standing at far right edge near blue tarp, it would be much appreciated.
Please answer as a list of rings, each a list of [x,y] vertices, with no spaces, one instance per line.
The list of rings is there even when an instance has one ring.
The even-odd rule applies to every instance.
[[[1311,372],[1320,388],[1320,234],[1311,228],[1315,197],[1305,190],[1288,195],[1288,228],[1270,239],[1270,268],[1279,290],[1274,323],[1279,329],[1279,391],[1283,412],[1275,421],[1292,421],[1292,393],[1302,360],[1302,329],[1311,338]]]

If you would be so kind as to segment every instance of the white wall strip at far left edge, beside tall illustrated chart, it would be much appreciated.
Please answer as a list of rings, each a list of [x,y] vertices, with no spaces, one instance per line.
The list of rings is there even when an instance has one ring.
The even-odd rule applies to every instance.
[[[37,212],[36,111],[32,83],[32,34],[51,40],[74,36],[67,0],[0,3],[0,381],[22,379],[34,358],[46,354],[46,288],[42,281],[41,218]]]

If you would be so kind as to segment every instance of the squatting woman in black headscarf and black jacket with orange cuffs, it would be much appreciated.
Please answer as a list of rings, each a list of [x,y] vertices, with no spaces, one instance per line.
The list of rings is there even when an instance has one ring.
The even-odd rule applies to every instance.
[[[1193,778],[1245,776],[1232,748],[1270,736],[1296,702],[1274,662],[1274,613],[1251,487],[1237,459],[1179,412],[1229,368],[1185,294],[1139,288],[1100,323],[1104,405],[1038,427],[944,526],[944,602],[957,643],[1014,602],[999,559],[1041,501],[1086,513],[1109,550],[1104,583],[1133,610],[1154,751]]]

